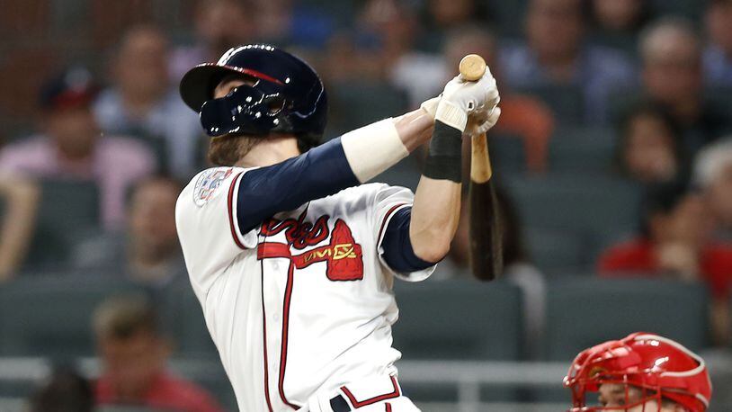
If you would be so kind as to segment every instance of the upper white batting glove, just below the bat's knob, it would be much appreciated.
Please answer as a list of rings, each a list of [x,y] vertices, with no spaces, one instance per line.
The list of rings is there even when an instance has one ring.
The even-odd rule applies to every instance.
[[[434,120],[465,131],[469,114],[487,107],[493,108],[499,98],[495,78],[489,69],[486,69],[486,73],[475,82],[469,82],[462,76],[456,76],[445,85]]]

